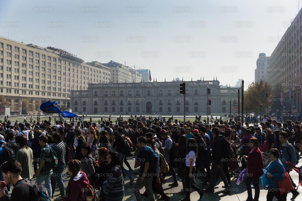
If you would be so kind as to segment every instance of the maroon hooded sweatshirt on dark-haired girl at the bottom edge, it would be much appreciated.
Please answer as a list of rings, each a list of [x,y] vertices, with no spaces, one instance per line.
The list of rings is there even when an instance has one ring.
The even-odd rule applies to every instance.
[[[86,173],[79,171],[78,174],[73,177],[70,184],[69,197],[64,196],[63,201],[84,201],[85,199],[85,185],[89,183],[86,177]]]

